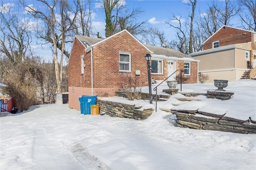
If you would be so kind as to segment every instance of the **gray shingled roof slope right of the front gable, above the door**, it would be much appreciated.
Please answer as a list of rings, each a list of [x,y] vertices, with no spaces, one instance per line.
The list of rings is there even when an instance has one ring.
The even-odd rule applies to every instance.
[[[176,51],[174,49],[164,48],[164,47],[156,47],[153,45],[146,45],[151,51],[153,51],[153,55],[165,55],[167,57],[178,57],[178,58],[192,58],[189,55]]]

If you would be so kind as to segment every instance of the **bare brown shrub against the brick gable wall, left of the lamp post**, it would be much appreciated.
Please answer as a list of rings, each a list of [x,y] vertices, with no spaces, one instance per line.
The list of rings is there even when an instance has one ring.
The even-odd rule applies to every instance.
[[[124,94],[128,100],[142,99],[141,87],[139,87],[137,76],[132,77],[131,74],[123,74],[121,79],[122,82],[119,84],[119,88],[124,91]]]

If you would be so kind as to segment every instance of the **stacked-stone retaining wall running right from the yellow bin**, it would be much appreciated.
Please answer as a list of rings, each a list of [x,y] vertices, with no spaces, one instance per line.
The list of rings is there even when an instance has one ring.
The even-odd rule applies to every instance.
[[[147,119],[154,109],[141,110],[140,107],[135,107],[135,105],[110,102],[106,100],[97,99],[97,104],[100,105],[100,112],[105,112],[111,117],[124,117],[136,120]]]

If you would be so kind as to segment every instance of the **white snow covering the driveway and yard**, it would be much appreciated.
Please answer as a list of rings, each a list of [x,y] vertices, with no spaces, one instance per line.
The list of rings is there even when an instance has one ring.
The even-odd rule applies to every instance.
[[[164,88],[167,85],[160,86],[158,92]],[[214,89],[213,84],[182,84],[183,92]],[[256,81],[229,82],[224,89],[234,92],[230,100],[198,96],[202,101],[182,105],[255,120]],[[135,102],[149,107],[148,101]],[[180,101],[172,96],[157,106],[182,106],[172,106],[174,102]],[[174,119],[160,109],[144,121],[81,115],[67,104],[33,106],[20,114],[1,113],[0,169],[256,169],[256,135],[179,128]]]

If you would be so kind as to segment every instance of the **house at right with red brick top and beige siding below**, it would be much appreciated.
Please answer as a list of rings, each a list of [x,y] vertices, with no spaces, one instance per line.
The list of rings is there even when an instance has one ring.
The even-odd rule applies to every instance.
[[[208,82],[240,80],[244,72],[256,66],[254,31],[224,25],[204,41],[203,49],[189,55],[200,61],[198,72],[208,74]]]

